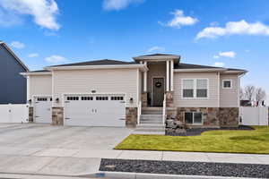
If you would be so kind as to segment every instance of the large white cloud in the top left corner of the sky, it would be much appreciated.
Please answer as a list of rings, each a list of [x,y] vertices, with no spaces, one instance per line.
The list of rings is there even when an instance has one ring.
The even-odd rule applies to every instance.
[[[55,0],[1,0],[0,6],[6,11],[31,15],[35,23],[49,30],[59,30],[56,22],[58,7]]]

